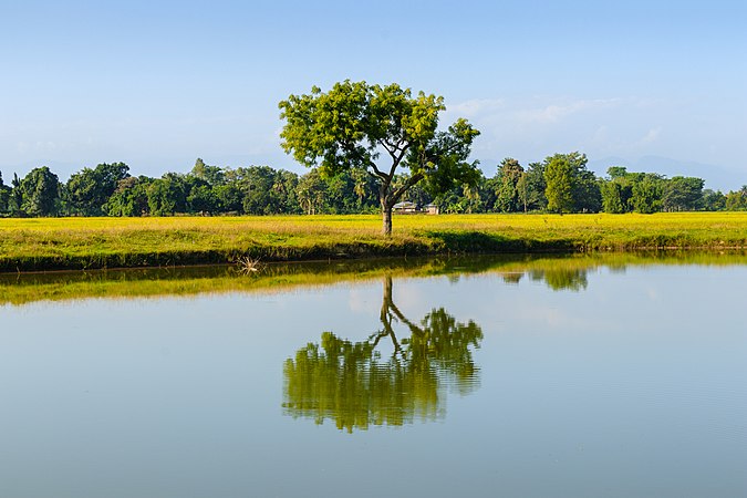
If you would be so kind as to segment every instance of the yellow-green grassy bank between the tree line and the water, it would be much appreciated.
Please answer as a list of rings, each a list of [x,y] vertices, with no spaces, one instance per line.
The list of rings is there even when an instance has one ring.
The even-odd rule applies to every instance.
[[[0,219],[0,271],[479,252],[745,248],[747,212]]]

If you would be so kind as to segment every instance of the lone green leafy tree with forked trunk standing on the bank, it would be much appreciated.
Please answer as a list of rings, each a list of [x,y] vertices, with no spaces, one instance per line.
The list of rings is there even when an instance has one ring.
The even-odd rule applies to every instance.
[[[360,168],[376,179],[385,235],[392,207],[418,181],[437,195],[479,178],[477,162],[467,163],[479,132],[464,118],[438,132],[446,108],[440,96],[345,80],[326,93],[314,86],[309,95],[291,95],[279,107],[287,121],[282,147],[299,163],[325,176]],[[400,167],[408,174],[395,187]]]

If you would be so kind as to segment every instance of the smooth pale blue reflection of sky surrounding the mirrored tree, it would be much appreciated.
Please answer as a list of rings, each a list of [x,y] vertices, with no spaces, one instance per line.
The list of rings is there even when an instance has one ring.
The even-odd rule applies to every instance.
[[[411,320],[483,328],[480,388],[353,436],[281,415],[282,363],[378,330],[383,281],[0,308],[0,496],[741,495],[747,267],[588,278],[395,279]]]

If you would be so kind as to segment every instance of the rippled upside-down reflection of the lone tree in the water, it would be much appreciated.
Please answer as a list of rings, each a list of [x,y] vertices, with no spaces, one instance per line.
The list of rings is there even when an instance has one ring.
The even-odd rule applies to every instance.
[[[479,347],[483,330],[475,322],[459,323],[440,308],[415,324],[394,304],[391,277],[384,280],[380,318],[382,329],[366,341],[324,332],[321,344],[310,343],[286,361],[287,415],[318,424],[333,419],[351,433],[371,424],[401,426],[443,417],[448,387],[467,394],[477,386],[470,349]],[[409,336],[397,338],[397,323]],[[386,340],[393,352],[382,357]]]

